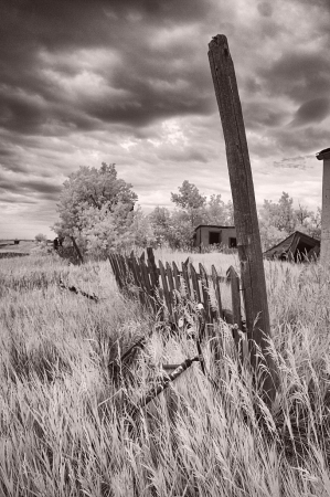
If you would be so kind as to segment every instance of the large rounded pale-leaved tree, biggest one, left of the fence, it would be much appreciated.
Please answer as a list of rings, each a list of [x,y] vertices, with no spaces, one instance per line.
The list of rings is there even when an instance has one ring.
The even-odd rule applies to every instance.
[[[74,237],[81,250],[95,256],[118,248],[134,239],[132,186],[117,178],[115,165],[100,169],[81,167],[63,184],[53,230],[60,236]]]

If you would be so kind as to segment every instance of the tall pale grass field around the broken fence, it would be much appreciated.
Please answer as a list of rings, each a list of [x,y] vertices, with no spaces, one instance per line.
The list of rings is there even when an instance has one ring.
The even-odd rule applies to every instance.
[[[158,251],[156,260],[189,254]],[[192,254],[225,274],[233,255]],[[194,363],[131,421],[161,364],[194,342],[118,293],[110,265],[56,255],[0,261],[0,495],[329,496],[329,281],[317,265],[265,263],[280,390],[269,412],[238,374],[231,330],[221,359],[203,345],[214,388]],[[99,303],[58,287],[58,279]],[[137,338],[130,364],[111,361]],[[132,430],[129,430],[132,426]]]

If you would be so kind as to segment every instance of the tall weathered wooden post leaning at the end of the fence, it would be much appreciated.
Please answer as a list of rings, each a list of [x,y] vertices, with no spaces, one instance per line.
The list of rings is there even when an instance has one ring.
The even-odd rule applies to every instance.
[[[211,73],[226,146],[251,362],[257,370],[265,400],[272,402],[276,394],[278,372],[267,350],[270,324],[266,281],[241,101],[226,36],[217,34],[209,43],[209,47]],[[258,359],[256,346],[260,348],[266,364]],[[267,366],[263,373],[259,366]]]

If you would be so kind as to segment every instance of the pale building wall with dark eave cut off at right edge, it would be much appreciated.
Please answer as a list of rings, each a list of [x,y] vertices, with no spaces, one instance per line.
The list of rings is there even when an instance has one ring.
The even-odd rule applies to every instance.
[[[323,161],[320,261],[326,267],[330,265],[330,148],[321,150],[317,158]]]

